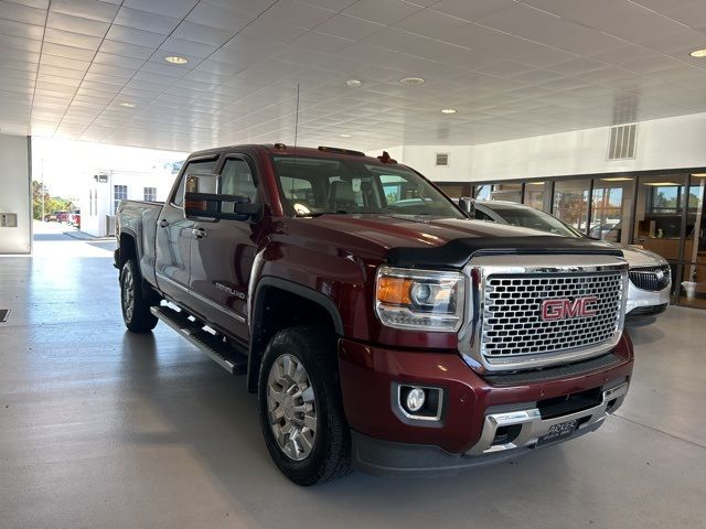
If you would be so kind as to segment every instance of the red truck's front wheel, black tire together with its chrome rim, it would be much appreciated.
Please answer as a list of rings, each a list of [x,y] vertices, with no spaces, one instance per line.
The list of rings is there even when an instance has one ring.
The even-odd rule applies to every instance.
[[[269,342],[259,374],[260,425],[270,456],[298,485],[351,473],[351,435],[339,388],[330,331],[290,327]]]

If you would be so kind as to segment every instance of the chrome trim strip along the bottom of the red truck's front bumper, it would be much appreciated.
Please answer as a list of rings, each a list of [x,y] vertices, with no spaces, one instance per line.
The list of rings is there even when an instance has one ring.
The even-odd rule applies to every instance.
[[[561,436],[560,440],[571,439],[582,430],[596,429],[600,422],[617,410],[628,393],[628,382],[623,382],[602,392],[601,401],[592,408],[568,413],[552,419],[542,419],[538,408],[520,409],[507,412],[490,413],[485,415],[481,439],[467,452],[467,455],[482,455],[503,452],[512,449],[533,447],[539,440],[550,433],[552,427],[577,421],[578,427],[571,435]],[[520,425],[520,433],[511,442],[493,444],[498,430],[503,427]],[[557,439],[557,440],[559,440]]]

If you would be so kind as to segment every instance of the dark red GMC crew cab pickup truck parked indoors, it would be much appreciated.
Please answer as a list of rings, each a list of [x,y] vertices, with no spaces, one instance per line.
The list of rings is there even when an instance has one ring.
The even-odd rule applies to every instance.
[[[622,252],[471,219],[387,153],[201,151],[117,219],[128,330],[161,320],[244,375],[297,484],[504,461],[625,398]]]

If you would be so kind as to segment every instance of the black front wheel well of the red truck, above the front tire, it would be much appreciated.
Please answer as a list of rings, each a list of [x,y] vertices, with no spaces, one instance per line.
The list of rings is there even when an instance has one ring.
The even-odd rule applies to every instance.
[[[296,305],[292,305],[296,303]],[[288,310],[295,307],[295,311]],[[257,391],[259,366],[269,339],[282,328],[295,325],[330,325],[338,336],[343,335],[343,321],[331,298],[299,283],[275,277],[264,277],[255,289],[252,303],[250,347],[247,388]],[[270,311],[271,315],[267,312]]]

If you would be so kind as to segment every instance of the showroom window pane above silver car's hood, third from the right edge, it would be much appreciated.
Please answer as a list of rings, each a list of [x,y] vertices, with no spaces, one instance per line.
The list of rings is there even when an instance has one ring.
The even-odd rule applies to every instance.
[[[589,235],[610,242],[630,242],[630,214],[634,179],[596,179],[591,198]]]

